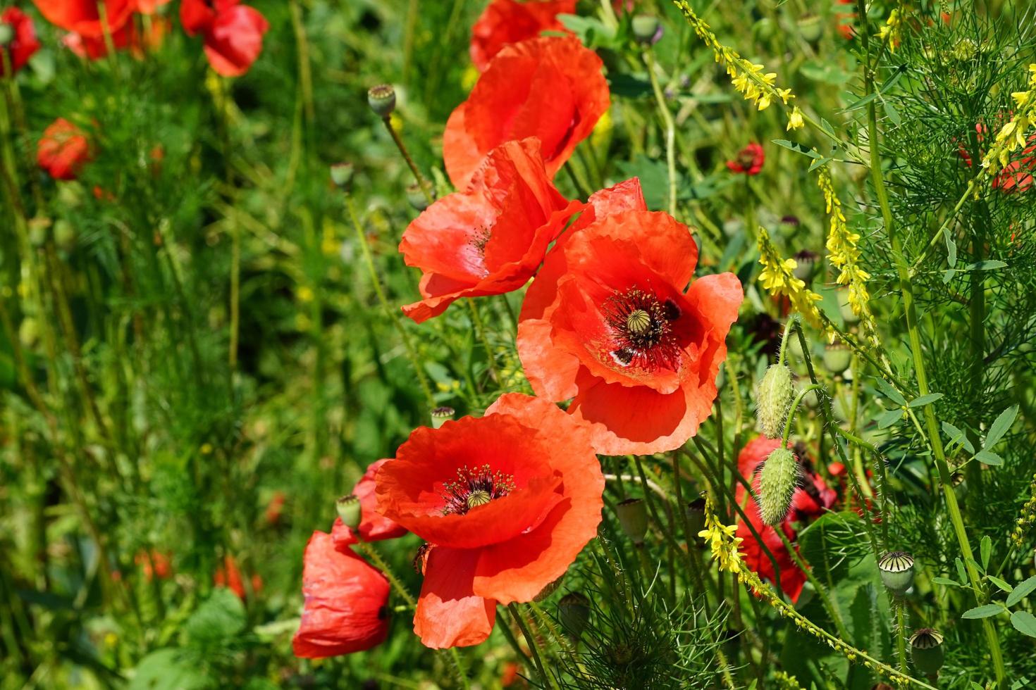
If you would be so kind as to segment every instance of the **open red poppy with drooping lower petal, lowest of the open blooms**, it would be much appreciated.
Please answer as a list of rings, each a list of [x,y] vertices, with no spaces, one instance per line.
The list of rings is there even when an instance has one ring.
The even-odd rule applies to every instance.
[[[375,481],[378,510],[433,545],[413,630],[435,649],[485,640],[496,603],[535,598],[601,521],[604,476],[587,433],[520,393],[482,418],[416,429]]]

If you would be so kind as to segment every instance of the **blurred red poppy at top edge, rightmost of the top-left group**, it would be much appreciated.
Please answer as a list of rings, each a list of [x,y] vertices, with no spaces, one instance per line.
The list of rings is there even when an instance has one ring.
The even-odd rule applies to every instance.
[[[269,23],[238,0],[183,0],[180,23],[189,36],[202,34],[205,57],[217,73],[240,77],[262,53]]]

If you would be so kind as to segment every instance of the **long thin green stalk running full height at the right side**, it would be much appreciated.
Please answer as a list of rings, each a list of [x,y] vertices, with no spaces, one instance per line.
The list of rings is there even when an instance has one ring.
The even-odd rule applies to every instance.
[[[863,27],[863,50],[865,57],[864,65],[864,90],[869,94],[873,90],[873,74],[869,65],[869,53],[868,53],[868,38],[867,34],[869,29],[866,24],[866,4],[864,0],[857,0],[857,6],[860,13],[860,19],[864,24]],[[882,159],[881,151],[877,147],[877,112],[874,106],[874,101],[871,100],[867,103],[867,142],[870,148],[870,177],[871,182],[874,185],[874,193],[877,197],[877,203],[882,209],[882,219],[885,223],[885,231],[889,235],[889,241],[892,245],[892,257],[896,265],[896,273],[899,278],[899,292],[902,295],[903,300],[903,311],[906,314],[906,331],[910,336],[910,349],[911,354],[914,359],[914,369],[917,377],[918,394],[921,396],[928,395],[928,377],[924,367],[924,352],[921,346],[921,334],[917,322],[917,307],[914,304],[914,286],[911,279],[910,267],[906,265],[906,259],[903,256],[902,247],[899,244],[899,238],[895,232],[895,224],[892,218],[892,208],[889,206],[888,192],[885,189],[885,179],[882,175]],[[971,185],[969,185],[971,189]],[[958,203],[958,207],[963,203],[963,199]],[[924,420],[927,426],[928,443],[931,446],[932,454],[936,458],[936,468],[939,471],[939,483],[943,489],[943,496],[946,498],[946,508],[950,516],[950,521],[953,524],[953,532],[956,536],[957,543],[960,546],[960,554],[963,557],[965,568],[968,571],[968,579],[971,581],[972,588],[975,591],[975,598],[977,603],[982,603],[982,582],[979,579],[978,571],[975,566],[972,565],[975,561],[974,552],[972,551],[971,544],[968,541],[968,533],[965,530],[963,519],[960,516],[960,508],[957,505],[957,496],[953,490],[953,480],[950,476],[949,464],[946,461],[946,453],[943,448],[943,440],[939,436],[939,421],[936,419],[936,412],[933,407],[930,404],[924,406]],[[1006,679],[1006,670],[1004,668],[1004,658],[1000,650],[1000,638],[997,635],[997,629],[992,625],[992,621],[988,618],[982,619],[982,628],[985,632],[986,643],[989,647],[989,655],[992,657],[992,667],[994,672],[997,677],[997,685],[1003,687]]]

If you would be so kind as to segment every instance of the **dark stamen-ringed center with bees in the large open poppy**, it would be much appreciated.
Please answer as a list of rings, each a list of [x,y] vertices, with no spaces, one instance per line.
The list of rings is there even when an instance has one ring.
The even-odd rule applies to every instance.
[[[636,288],[612,294],[602,307],[611,328],[611,359],[620,366],[638,366],[649,371],[680,366],[680,346],[673,322],[680,319],[680,306],[671,299]]]

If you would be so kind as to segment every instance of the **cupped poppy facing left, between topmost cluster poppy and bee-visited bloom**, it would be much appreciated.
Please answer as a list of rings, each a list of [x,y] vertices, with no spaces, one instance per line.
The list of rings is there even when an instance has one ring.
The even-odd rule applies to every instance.
[[[467,189],[436,201],[403,233],[399,250],[422,270],[424,298],[403,312],[421,323],[461,297],[518,290],[580,206],[550,183],[538,140],[497,147]]]

